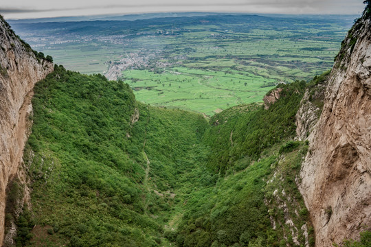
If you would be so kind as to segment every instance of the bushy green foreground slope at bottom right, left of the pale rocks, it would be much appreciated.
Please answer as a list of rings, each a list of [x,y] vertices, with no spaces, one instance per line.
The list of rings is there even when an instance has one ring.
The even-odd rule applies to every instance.
[[[271,230],[264,203],[263,178],[276,156],[263,158],[243,172],[219,180],[189,197],[175,239],[179,246],[232,246],[266,243]],[[263,244],[264,245],[264,244]]]

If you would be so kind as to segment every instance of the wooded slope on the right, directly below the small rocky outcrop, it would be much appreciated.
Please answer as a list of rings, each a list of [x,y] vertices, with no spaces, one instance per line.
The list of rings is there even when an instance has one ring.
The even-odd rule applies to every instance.
[[[212,146],[207,163],[216,172],[224,174],[243,156],[256,160],[263,150],[295,133],[295,114],[306,83],[278,87],[282,89],[280,100],[268,110],[254,105],[236,106],[210,119],[215,127],[205,134],[205,143]]]

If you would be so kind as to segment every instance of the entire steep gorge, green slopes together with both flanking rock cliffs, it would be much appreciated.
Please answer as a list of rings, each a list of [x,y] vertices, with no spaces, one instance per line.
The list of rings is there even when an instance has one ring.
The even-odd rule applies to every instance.
[[[34,235],[45,243],[311,246],[313,223],[316,246],[331,246],[370,229],[370,18],[355,23],[315,93],[302,99],[305,82],[280,85],[271,107],[236,106],[210,124],[136,102],[121,81],[55,67],[35,88],[30,157],[22,157],[30,99],[53,67],[0,24],[1,226],[5,188],[25,180],[19,166],[28,158]],[[306,142],[289,140],[296,112],[307,154]],[[310,220],[293,172],[305,154],[296,182]],[[171,230],[163,233],[164,224]]]

